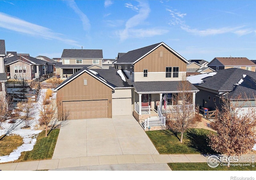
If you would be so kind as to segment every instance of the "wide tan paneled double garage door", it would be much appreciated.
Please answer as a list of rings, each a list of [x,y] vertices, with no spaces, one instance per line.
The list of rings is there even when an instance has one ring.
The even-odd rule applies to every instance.
[[[108,117],[108,100],[67,101],[63,111],[69,112],[70,120]]]

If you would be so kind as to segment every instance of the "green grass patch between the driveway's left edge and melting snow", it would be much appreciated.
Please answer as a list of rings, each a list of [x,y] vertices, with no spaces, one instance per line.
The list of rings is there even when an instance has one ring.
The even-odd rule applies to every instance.
[[[33,150],[24,151],[18,160],[14,162],[51,159],[57,142],[60,129],[55,129],[45,137],[45,131],[40,132]]]

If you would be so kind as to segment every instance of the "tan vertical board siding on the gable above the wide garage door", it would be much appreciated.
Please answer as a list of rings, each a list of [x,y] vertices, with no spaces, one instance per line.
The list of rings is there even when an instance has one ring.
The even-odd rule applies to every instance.
[[[87,85],[84,85],[84,80]],[[84,72],[57,92],[63,101],[108,100],[108,118],[112,117],[112,89]],[[60,106],[62,110],[62,104]]]

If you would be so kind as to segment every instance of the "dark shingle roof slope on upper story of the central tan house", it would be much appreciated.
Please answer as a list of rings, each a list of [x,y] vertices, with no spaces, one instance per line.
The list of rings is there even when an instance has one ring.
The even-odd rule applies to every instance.
[[[146,46],[144,48],[139,48],[136,50],[129,51],[117,59],[117,64],[124,63],[124,62],[127,62],[127,63],[135,62],[136,60],[138,60],[139,58],[141,58],[142,56],[150,52],[152,49],[156,48],[159,44],[161,43],[157,43],[150,46]]]

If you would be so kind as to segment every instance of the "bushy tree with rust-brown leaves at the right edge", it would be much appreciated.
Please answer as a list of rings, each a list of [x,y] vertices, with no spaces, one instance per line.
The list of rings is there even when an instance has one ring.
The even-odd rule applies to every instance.
[[[222,102],[221,110],[216,109],[216,120],[211,123],[217,133],[210,134],[210,146],[221,154],[239,156],[252,150],[256,144],[255,107],[248,108],[249,113],[244,113],[241,102],[230,101],[223,97]]]

